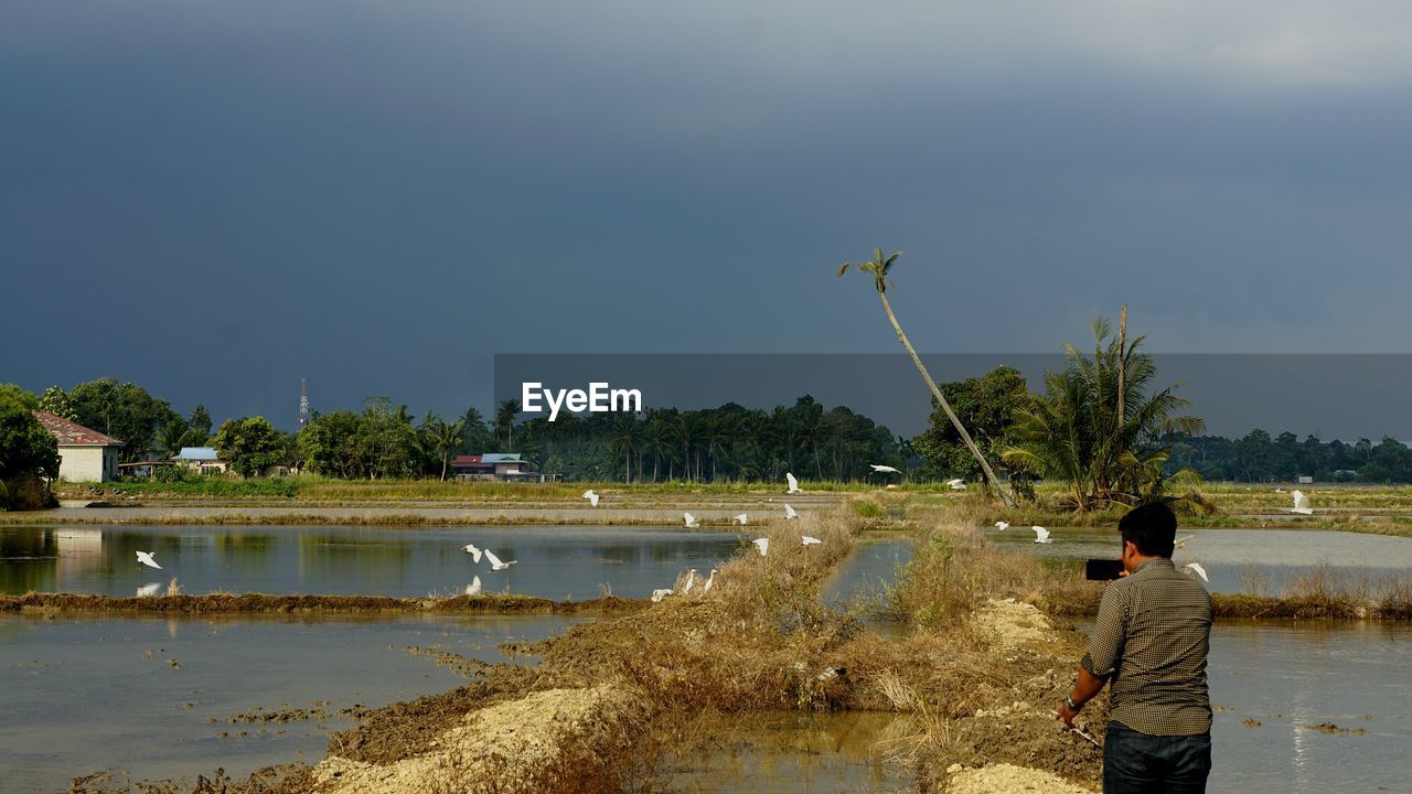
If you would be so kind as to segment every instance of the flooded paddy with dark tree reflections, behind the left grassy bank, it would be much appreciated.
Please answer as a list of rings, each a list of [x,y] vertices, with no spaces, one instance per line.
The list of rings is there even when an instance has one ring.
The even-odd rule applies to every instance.
[[[479,578],[483,592],[645,598],[686,568],[706,575],[743,537],[669,527],[0,527],[0,593],[154,595],[175,576],[188,593],[425,596],[467,592]],[[517,564],[491,571],[466,544]],[[155,552],[162,569],[140,565],[136,551]]]

